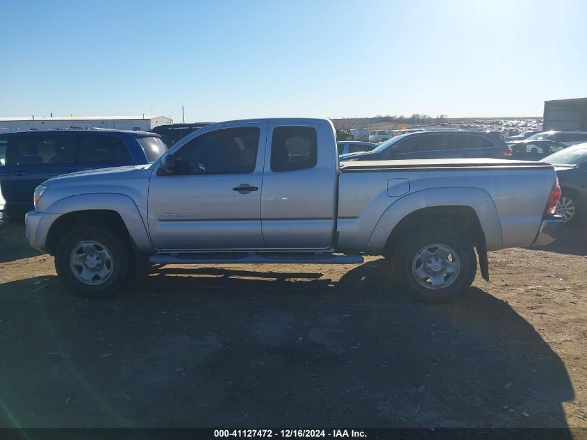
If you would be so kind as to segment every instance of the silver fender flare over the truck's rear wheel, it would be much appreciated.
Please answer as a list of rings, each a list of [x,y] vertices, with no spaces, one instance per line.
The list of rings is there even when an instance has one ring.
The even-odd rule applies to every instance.
[[[469,206],[477,213],[487,250],[497,250],[502,247],[502,225],[491,195],[481,188],[447,187],[409,193],[390,204],[371,233],[367,252],[381,254],[393,229],[406,215],[434,206]]]

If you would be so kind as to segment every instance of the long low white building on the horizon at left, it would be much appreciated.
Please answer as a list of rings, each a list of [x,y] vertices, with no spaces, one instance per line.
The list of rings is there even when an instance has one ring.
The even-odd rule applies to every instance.
[[[150,130],[160,125],[171,125],[165,116],[55,116],[55,117],[0,117],[0,133],[15,130],[51,130],[79,127],[117,130]]]

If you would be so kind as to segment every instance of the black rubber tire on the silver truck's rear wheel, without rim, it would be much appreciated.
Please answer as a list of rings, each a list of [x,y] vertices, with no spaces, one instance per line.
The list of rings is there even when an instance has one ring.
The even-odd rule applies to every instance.
[[[443,267],[438,268],[438,273],[433,272],[436,280],[439,277],[443,280],[436,287],[431,286],[433,282],[431,277],[427,281],[424,279],[419,281],[415,273],[421,263],[426,264],[426,261],[431,261],[428,258],[424,259],[426,261],[421,261],[422,253],[420,251],[424,248],[428,250],[424,252],[434,250],[434,245],[440,245],[445,250],[452,250],[456,255],[456,267],[458,267],[456,275],[444,274]],[[418,255],[420,257],[416,258]],[[454,264],[454,256],[452,261],[450,261],[450,257],[446,261],[448,261],[447,264]],[[432,261],[432,263],[438,264],[438,261]],[[419,264],[420,266],[418,266]],[[440,264],[444,266],[442,257],[440,257]],[[477,259],[472,245],[458,234],[449,231],[422,231],[416,232],[399,243],[397,251],[393,254],[392,268],[400,286],[404,287],[415,300],[440,304],[455,300],[468,291],[477,273]],[[422,270],[425,269],[426,266],[422,266]],[[432,267],[429,269],[433,270]],[[424,286],[423,283],[427,286]],[[446,286],[443,287],[442,284],[446,284]]]

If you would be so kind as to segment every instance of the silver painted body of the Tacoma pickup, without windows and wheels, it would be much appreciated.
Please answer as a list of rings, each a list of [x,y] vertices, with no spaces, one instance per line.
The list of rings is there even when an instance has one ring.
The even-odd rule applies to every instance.
[[[272,172],[272,129],[317,131],[317,165]],[[331,122],[246,120],[213,124],[178,142],[169,153],[208,131],[261,129],[251,174],[158,176],[158,162],[56,177],[26,219],[28,240],[45,250],[53,222],[67,213],[109,209],[121,216],[144,254],[181,252],[333,252],[381,254],[406,215],[431,206],[470,206],[488,250],[531,245],[542,224],[556,174],[543,163],[497,159],[347,162],[338,164]],[[259,190],[240,193],[241,184]],[[179,215],[166,215],[179,214]],[[325,261],[327,262],[327,261]]]

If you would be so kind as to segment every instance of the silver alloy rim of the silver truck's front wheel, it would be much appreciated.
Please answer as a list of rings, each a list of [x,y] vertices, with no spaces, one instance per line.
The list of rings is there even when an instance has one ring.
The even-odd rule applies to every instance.
[[[80,241],[74,246],[69,266],[84,284],[101,284],[112,275],[113,258],[108,247],[97,241]]]

